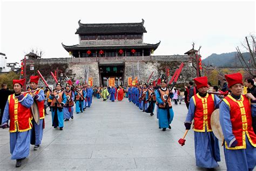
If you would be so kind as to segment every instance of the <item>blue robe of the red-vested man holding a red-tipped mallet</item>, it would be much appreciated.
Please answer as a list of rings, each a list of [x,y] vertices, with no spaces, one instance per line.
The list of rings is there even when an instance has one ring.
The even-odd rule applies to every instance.
[[[214,95],[214,107],[219,108],[220,99]],[[187,117],[185,123],[191,123],[194,118],[196,106],[190,99]],[[214,168],[218,167],[217,161],[220,161],[219,140],[213,132],[196,132],[194,131],[194,149],[196,154],[196,165],[198,167]]]

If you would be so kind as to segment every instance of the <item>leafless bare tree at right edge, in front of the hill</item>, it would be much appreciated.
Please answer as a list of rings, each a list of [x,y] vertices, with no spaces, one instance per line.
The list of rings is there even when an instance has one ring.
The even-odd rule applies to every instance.
[[[247,73],[254,76],[254,70],[256,67],[255,57],[256,57],[256,47],[255,47],[255,35],[250,35],[250,37],[245,37],[245,42],[242,43],[242,49],[239,47],[237,49],[237,58],[239,59],[242,67]],[[250,60],[247,61],[243,52],[249,52]],[[248,63],[249,62],[249,63]]]

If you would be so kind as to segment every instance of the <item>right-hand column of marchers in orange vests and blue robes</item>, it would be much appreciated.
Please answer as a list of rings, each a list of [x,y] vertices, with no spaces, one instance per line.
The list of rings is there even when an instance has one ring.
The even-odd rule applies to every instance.
[[[128,88],[129,102],[132,102],[140,110],[154,115],[154,108],[157,104],[157,118],[159,129],[166,131],[167,128],[171,129],[174,112],[172,109],[171,99],[173,92],[167,88],[167,80],[161,79],[158,84],[154,82],[142,84],[139,82],[136,86]]]

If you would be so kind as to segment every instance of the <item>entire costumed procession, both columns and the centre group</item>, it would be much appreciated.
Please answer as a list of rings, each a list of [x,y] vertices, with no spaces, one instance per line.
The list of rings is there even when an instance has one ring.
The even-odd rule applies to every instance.
[[[64,120],[73,119],[74,103],[76,113],[83,113],[86,108],[90,108],[92,96],[103,98],[103,101],[110,98],[112,102],[116,99],[122,101],[123,97],[127,97],[129,102],[143,112],[150,113],[150,116],[154,115],[156,107],[159,129],[171,129],[170,124],[174,116],[171,99],[174,90],[167,87],[166,79],[160,79],[157,85],[154,82],[149,85],[139,82],[136,86],[118,89],[92,89],[83,83],[71,90],[69,83],[65,88],[57,83],[55,90],[49,92],[38,89],[38,80],[39,76],[30,77],[32,91],[29,92],[22,92],[24,79],[13,80],[15,93],[9,95],[3,112],[2,128],[9,127],[11,159],[16,159],[16,167],[20,167],[22,160],[28,157],[30,144],[35,145],[35,150],[41,145],[46,114],[45,102],[51,106],[52,126],[59,127],[59,130],[63,130]],[[219,166],[219,140],[213,134],[211,125],[211,115],[215,109],[219,109],[227,170],[253,170],[256,164],[256,88],[250,85],[249,80],[246,83],[248,93],[242,94],[244,89],[240,73],[225,75],[225,81],[230,94],[222,99],[207,91],[209,85],[206,76],[195,78],[196,86],[193,88],[191,85],[189,91],[186,90],[188,112],[184,125],[186,130],[193,126],[196,165],[207,169]],[[193,93],[191,97],[190,91]],[[38,106],[38,119],[31,114],[35,104]],[[185,141],[183,145],[184,143]]]

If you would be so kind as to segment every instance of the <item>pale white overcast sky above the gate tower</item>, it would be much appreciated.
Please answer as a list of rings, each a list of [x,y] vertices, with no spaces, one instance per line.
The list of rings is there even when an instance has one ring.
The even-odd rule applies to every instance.
[[[82,23],[139,23],[144,42],[161,41],[154,55],[184,54],[201,45],[203,58],[234,52],[246,35],[255,34],[255,2],[83,2],[1,0],[1,49],[8,62],[20,61],[31,48],[43,58],[70,57],[62,47],[78,44]]]

